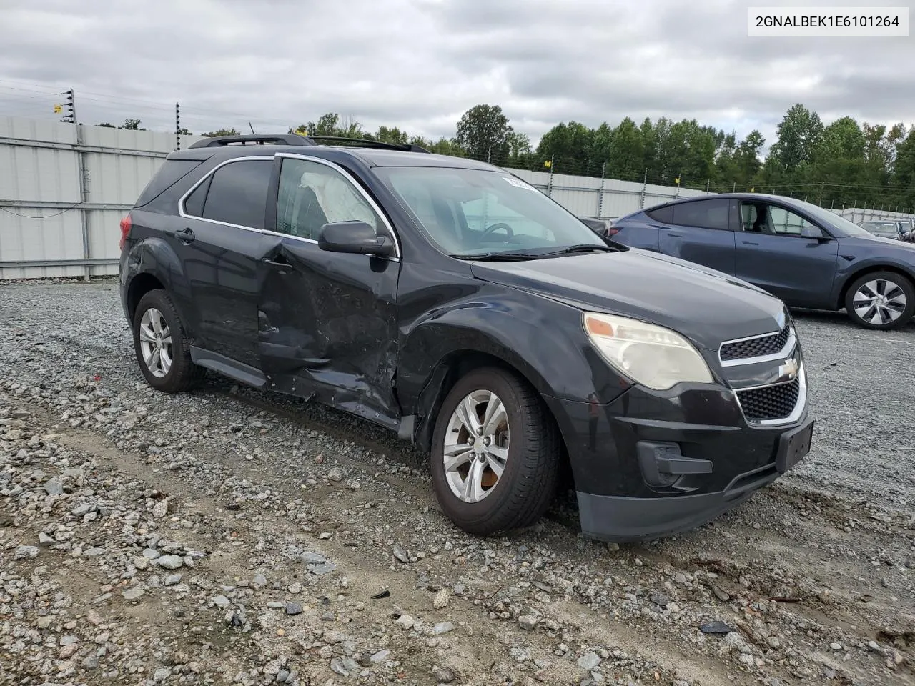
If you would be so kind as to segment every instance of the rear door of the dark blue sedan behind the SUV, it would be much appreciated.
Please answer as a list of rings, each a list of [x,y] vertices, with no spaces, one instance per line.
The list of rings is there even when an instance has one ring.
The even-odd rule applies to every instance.
[[[658,250],[719,272],[735,273],[735,234],[732,209],[737,200],[707,198],[675,203],[662,208],[656,224]]]

